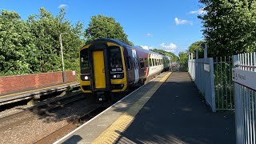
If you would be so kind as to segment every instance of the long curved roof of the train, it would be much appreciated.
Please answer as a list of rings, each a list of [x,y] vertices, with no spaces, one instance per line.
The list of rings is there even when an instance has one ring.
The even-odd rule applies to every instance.
[[[113,43],[118,44],[120,46],[126,46],[126,47],[130,47],[130,48],[135,48],[135,49],[138,49],[138,50],[142,50],[142,51],[148,52],[150,54],[159,54],[159,53],[156,53],[156,52],[151,51],[151,50],[143,49],[142,47],[130,46],[130,45],[126,44],[125,42],[122,42],[122,41],[119,41],[119,40],[113,39],[113,38],[98,38],[98,39],[95,39],[94,41],[86,42],[86,45],[92,44],[92,43],[95,43],[95,42],[113,42]],[[169,57],[169,56],[163,55],[163,54],[160,54],[160,55]]]

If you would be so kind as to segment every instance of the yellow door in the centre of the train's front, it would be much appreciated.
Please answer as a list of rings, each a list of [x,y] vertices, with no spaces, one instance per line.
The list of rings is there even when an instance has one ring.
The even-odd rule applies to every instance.
[[[106,88],[105,65],[103,50],[93,51],[94,84],[96,89]]]

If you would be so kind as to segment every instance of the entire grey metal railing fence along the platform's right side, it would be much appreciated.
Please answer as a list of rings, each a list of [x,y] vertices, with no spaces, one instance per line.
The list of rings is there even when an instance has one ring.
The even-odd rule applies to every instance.
[[[190,77],[212,111],[234,110],[236,142],[256,143],[256,54],[216,58],[215,62],[213,58],[191,58],[193,55],[188,61]]]

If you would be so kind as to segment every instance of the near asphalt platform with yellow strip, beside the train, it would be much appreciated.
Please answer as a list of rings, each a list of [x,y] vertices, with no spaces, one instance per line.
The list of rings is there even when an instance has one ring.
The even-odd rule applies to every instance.
[[[186,72],[166,72],[54,143],[235,143],[234,128]]]

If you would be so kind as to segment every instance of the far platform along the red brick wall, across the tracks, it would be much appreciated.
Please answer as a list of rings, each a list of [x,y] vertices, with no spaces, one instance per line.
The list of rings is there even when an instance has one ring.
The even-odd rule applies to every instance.
[[[58,91],[66,90],[68,87],[78,87],[80,86],[79,82],[65,82],[62,84],[54,86],[41,87],[34,90],[23,90],[18,92],[13,92],[9,94],[0,94],[0,106],[6,105],[11,102],[18,102],[24,99],[40,97],[42,95],[51,94]]]

